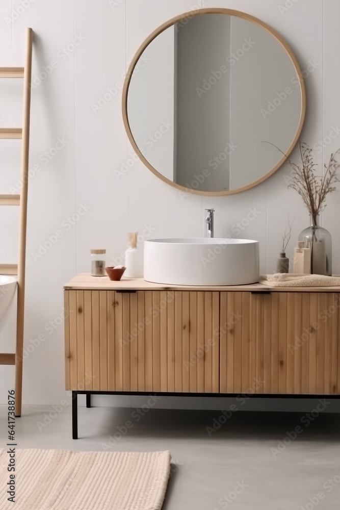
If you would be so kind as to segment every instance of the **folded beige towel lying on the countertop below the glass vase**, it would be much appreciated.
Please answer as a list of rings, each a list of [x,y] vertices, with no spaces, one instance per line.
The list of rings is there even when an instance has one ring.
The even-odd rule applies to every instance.
[[[340,287],[339,276],[325,276],[324,274],[267,274],[260,279],[260,283],[269,287]]]

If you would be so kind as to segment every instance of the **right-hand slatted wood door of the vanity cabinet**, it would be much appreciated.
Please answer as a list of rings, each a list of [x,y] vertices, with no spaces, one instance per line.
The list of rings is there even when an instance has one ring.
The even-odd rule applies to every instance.
[[[340,394],[339,297],[221,292],[220,392]]]

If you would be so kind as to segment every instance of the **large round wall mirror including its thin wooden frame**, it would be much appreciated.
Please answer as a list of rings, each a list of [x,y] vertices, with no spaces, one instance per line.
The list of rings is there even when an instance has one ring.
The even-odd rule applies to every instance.
[[[264,181],[303,125],[301,70],[262,21],[229,9],[171,19],[135,55],[123,118],[143,163],[169,184],[226,195]]]

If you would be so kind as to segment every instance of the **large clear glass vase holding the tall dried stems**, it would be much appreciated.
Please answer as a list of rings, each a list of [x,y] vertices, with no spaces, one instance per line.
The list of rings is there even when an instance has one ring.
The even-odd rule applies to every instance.
[[[308,243],[311,248],[310,272],[312,274],[332,274],[332,237],[326,228],[319,225],[319,215],[309,216],[310,226],[299,235],[299,241]]]

